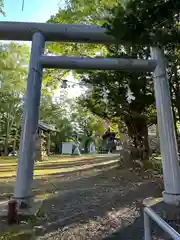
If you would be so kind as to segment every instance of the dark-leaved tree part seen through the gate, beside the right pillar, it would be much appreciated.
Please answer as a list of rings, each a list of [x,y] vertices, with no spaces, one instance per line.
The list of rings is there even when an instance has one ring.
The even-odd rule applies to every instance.
[[[108,51],[108,57],[128,57],[121,45],[119,48],[111,46]],[[147,48],[131,47],[128,49],[129,54],[130,57],[149,58]],[[156,122],[151,74],[90,71],[82,75],[81,80],[93,86],[92,91],[81,99],[81,103],[100,117],[123,121],[139,156],[148,159],[148,126]],[[107,104],[104,102],[104,89],[107,91]],[[128,99],[128,91],[132,99]]]

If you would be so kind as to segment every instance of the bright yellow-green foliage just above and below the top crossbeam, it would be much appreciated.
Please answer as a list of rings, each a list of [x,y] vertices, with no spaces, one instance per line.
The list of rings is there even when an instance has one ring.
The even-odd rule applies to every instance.
[[[67,0],[48,22],[101,26],[105,22],[108,9],[116,6],[118,2],[119,0]],[[106,48],[97,44],[51,43],[48,45],[48,51],[56,55],[93,57],[97,52],[106,51]]]

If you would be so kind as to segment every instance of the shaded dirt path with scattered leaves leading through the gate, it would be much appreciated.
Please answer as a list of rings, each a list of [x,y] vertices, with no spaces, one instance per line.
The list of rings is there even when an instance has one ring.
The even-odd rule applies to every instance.
[[[57,195],[44,202],[47,221],[36,239],[143,239],[142,201],[161,195],[157,182],[105,168],[57,176]]]

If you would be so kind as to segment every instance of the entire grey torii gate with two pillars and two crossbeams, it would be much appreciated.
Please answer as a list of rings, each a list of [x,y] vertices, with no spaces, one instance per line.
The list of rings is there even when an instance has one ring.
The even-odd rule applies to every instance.
[[[31,58],[21,131],[14,199],[28,202],[34,171],[34,147],[38,125],[43,68],[154,71],[154,90],[162,153],[164,201],[180,202],[180,167],[163,50],[151,47],[152,60],[72,58],[43,56],[46,41],[113,44],[117,41],[104,28],[89,25],[1,22],[1,40],[32,41]]]

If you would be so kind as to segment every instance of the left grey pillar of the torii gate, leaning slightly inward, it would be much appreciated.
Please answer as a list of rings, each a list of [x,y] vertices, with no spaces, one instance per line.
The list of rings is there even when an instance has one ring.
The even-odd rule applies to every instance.
[[[44,36],[36,32],[32,38],[31,58],[21,132],[19,159],[14,198],[26,203],[31,197],[31,185],[34,169],[35,137],[38,125],[41,95],[42,66],[39,58],[45,45]]]

